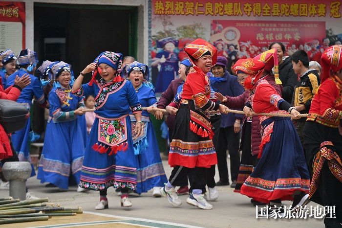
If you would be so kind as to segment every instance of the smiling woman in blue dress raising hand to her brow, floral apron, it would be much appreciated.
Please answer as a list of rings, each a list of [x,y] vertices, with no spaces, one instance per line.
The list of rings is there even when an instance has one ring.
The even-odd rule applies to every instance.
[[[100,191],[95,209],[108,208],[107,188],[121,188],[121,206],[132,206],[128,190],[136,188],[136,162],[129,113],[137,120],[136,136],[141,133],[141,105],[132,83],[120,77],[122,54],[106,51],[89,64],[76,79],[72,91],[78,96],[95,97],[94,125],[85,147],[80,187]],[[86,73],[92,79],[82,84]],[[97,73],[101,79],[95,80]]]

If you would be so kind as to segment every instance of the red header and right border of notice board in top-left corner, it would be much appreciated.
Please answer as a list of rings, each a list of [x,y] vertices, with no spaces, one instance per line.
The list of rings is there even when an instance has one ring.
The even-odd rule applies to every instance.
[[[25,49],[25,2],[0,1],[0,22],[19,22],[22,24],[21,49]]]

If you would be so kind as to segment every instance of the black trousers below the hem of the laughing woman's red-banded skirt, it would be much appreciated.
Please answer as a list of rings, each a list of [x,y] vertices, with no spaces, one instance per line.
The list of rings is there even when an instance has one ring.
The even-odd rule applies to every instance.
[[[171,172],[169,182],[174,186],[181,186],[181,183],[188,174],[191,175],[191,189],[205,189],[207,184],[207,168],[188,168],[185,166],[175,166]]]

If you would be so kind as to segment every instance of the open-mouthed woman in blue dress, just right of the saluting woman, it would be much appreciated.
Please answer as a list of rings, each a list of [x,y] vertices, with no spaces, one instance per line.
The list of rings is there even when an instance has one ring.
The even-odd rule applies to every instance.
[[[157,99],[153,89],[147,84],[149,81],[149,67],[139,62],[133,62],[124,68],[128,75],[128,80],[132,83],[136,94],[143,107],[156,106]],[[168,180],[165,175],[157,138],[150,120],[148,111],[143,111],[141,121],[143,122],[142,134],[136,137],[134,126],[136,120],[130,114],[132,124],[132,135],[134,143],[134,154],[137,160],[137,187],[135,192],[141,194],[153,188],[152,195],[160,197],[160,188]]]

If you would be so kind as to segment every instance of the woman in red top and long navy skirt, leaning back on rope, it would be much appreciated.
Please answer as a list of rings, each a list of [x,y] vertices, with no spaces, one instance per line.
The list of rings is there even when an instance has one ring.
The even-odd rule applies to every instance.
[[[250,89],[250,97],[244,112],[251,116],[256,113],[290,113],[297,119],[299,112],[282,99],[275,88],[264,79],[274,67],[275,81],[281,84],[278,75],[277,49],[267,50],[254,59],[239,60],[235,70],[249,74],[249,68],[257,70],[255,75],[245,79],[245,87]],[[309,190],[309,172],[304,152],[296,129],[290,117],[259,115],[261,123],[260,159],[247,180],[241,186],[241,194],[259,202],[270,203],[268,214],[274,209],[283,211],[282,200],[293,200],[297,207],[306,203]],[[270,162],[272,161],[272,162]],[[259,214],[263,216],[265,214]],[[280,216],[280,214],[279,214]]]

